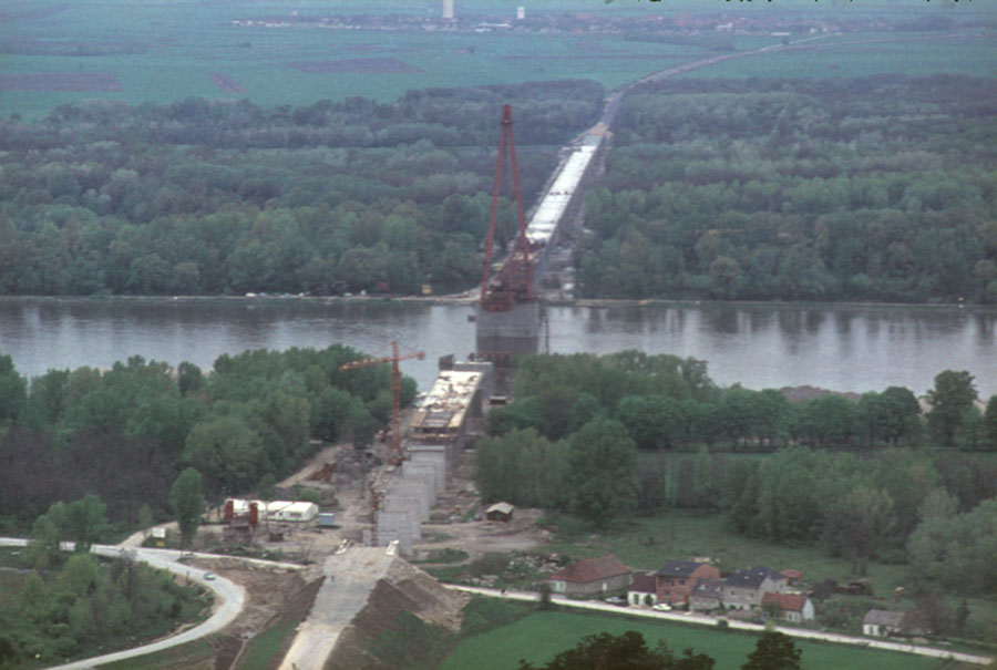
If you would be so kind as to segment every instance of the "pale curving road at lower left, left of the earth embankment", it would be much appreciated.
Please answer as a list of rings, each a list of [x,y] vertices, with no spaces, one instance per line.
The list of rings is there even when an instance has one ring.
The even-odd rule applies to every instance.
[[[28,540],[14,537],[0,537],[0,546],[6,547],[27,547]],[[63,549],[72,550],[73,543],[63,543]],[[201,570],[195,567],[191,567],[186,564],[178,563],[177,559],[181,557],[181,552],[174,549],[147,549],[147,548],[136,548],[136,547],[122,547],[120,545],[94,545],[93,553],[99,556],[105,556],[109,558],[117,558],[122,556],[123,552],[134,553],[135,558],[138,560],[144,560],[150,564],[154,568],[169,570],[177,575],[182,575],[188,579],[194,579],[202,586],[205,586],[212,589],[215,595],[220,598],[220,604],[215,607],[212,616],[188,630],[179,632],[175,636],[171,636],[157,642],[152,642],[150,645],[144,645],[142,647],[135,647],[133,649],[124,649],[122,651],[115,651],[113,653],[106,653],[104,656],[97,656],[89,659],[83,659],[80,661],[74,661],[72,663],[66,663],[64,666],[56,666],[59,670],[82,670],[83,668],[92,668],[93,666],[101,663],[110,663],[112,661],[124,660],[127,658],[133,658],[136,656],[144,656],[146,653],[152,653],[154,651],[162,651],[163,649],[168,649],[171,647],[177,647],[179,645],[185,645],[186,642],[194,641],[196,639],[203,638],[207,635],[217,632],[232,623],[233,620],[241,612],[243,606],[246,601],[246,590],[233,583],[228,579],[225,579],[222,576],[217,576],[213,580],[206,580],[204,578],[204,570]],[[201,557],[201,558],[219,558],[220,556],[216,554],[192,554],[192,557]],[[233,558],[233,557],[226,557]],[[302,566],[291,563],[276,563],[270,560],[259,560],[259,559],[238,559],[247,563],[253,563],[257,565],[267,565],[271,567],[280,567],[280,568],[294,568],[300,569]]]

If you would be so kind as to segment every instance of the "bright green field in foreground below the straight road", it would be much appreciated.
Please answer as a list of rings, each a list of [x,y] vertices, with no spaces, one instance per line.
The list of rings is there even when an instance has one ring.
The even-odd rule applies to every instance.
[[[644,635],[651,648],[661,639],[672,651],[691,647],[697,652],[708,653],[717,660],[717,670],[740,668],[757,639],[753,635],[695,626],[571,612],[537,612],[515,623],[469,638],[439,666],[439,670],[511,670],[523,658],[532,662],[546,662],[557,652],[574,647],[584,636],[604,631],[619,635],[626,630]],[[803,651],[803,667],[806,670],[927,670],[944,664],[924,657],[843,645],[801,640],[795,640],[795,643]]]

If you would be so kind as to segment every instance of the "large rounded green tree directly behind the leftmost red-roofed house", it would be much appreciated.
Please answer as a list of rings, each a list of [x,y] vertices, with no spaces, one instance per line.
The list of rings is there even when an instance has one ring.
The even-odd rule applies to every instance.
[[[606,527],[637,505],[637,446],[621,423],[598,418],[572,435],[568,487],[572,512]]]

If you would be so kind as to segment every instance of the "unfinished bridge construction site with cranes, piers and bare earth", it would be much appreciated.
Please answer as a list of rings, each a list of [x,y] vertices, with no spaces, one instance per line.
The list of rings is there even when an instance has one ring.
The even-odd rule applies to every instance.
[[[345,371],[391,365],[390,429],[370,445],[319,449],[311,463],[277,484],[275,499],[230,498],[214,513],[218,523],[203,529],[201,547],[220,544],[227,553],[304,566],[268,569],[236,558],[196,559],[198,567],[217,570],[248,592],[247,607],[228,629],[230,649],[217,654],[222,666],[215,667],[237,667],[249,640],[291,622],[281,669],[397,667],[397,653],[371,656],[378,647],[370,643],[373,638],[408,616],[435,630],[456,631],[466,602],[466,595],[446,589],[407,559],[460,549],[473,560],[491,552],[530,550],[546,539],[536,527],[536,511],[482,507],[473,483],[473,446],[484,435],[490,409],[508,401],[513,355],[537,350],[536,287],[556,265],[552,259],[564,221],[579,216],[575,194],[604,138],[599,124],[563,151],[527,226],[512,112],[503,109],[473,360],[441,358],[432,388],[411,409],[401,406],[400,362],[423,352],[400,353],[392,341],[389,355],[343,364]],[[498,249],[495,205],[506,157],[518,235]],[[498,269],[491,275],[493,267]],[[290,502],[300,499],[302,489],[315,502]]]

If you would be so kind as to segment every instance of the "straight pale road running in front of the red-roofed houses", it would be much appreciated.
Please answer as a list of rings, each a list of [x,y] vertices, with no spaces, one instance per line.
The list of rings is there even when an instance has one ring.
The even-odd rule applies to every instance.
[[[462,590],[469,594],[477,594],[480,596],[489,596],[492,598],[505,598],[510,600],[525,600],[527,602],[535,602],[539,600],[539,594],[535,594],[532,591],[501,591],[498,589],[490,589],[490,588],[481,588],[475,586],[460,586],[455,584],[445,585],[449,588]],[[592,602],[586,600],[571,600],[565,598],[564,596],[553,596],[552,599],[557,602],[557,605],[565,607],[576,607],[579,609],[593,609],[603,612],[616,614],[616,615],[625,615],[633,617],[648,617],[655,619],[667,619],[671,621],[680,621],[683,623],[698,623],[700,626],[717,626],[717,619],[712,617],[706,617],[703,615],[696,614],[674,614],[674,612],[659,612],[654,610],[645,610],[645,609],[631,609],[631,608],[621,608],[616,605],[603,605],[602,602]],[[744,621],[737,620],[728,620],[728,626],[733,629],[740,630],[750,630],[754,632],[763,632],[767,630],[765,626],[761,623],[748,623]],[[932,658],[941,658],[941,659],[952,659],[955,661],[959,661],[963,663],[975,663],[978,666],[986,666],[990,663],[994,659],[990,659],[985,656],[974,656],[970,653],[963,653],[959,651],[949,651],[946,649],[934,649],[932,647],[922,647],[918,645],[903,645],[900,642],[887,642],[885,640],[871,640],[867,638],[859,638],[854,636],[846,636],[835,632],[822,632],[820,630],[806,630],[803,628],[788,628],[788,627],[778,627],[775,628],[779,632],[784,632],[788,636],[796,637],[796,638],[806,638],[811,640],[821,640],[825,642],[836,642],[840,645],[854,645],[856,647],[865,647],[872,649],[884,649],[886,651],[900,651],[903,653],[915,653],[918,656],[927,656]]]

